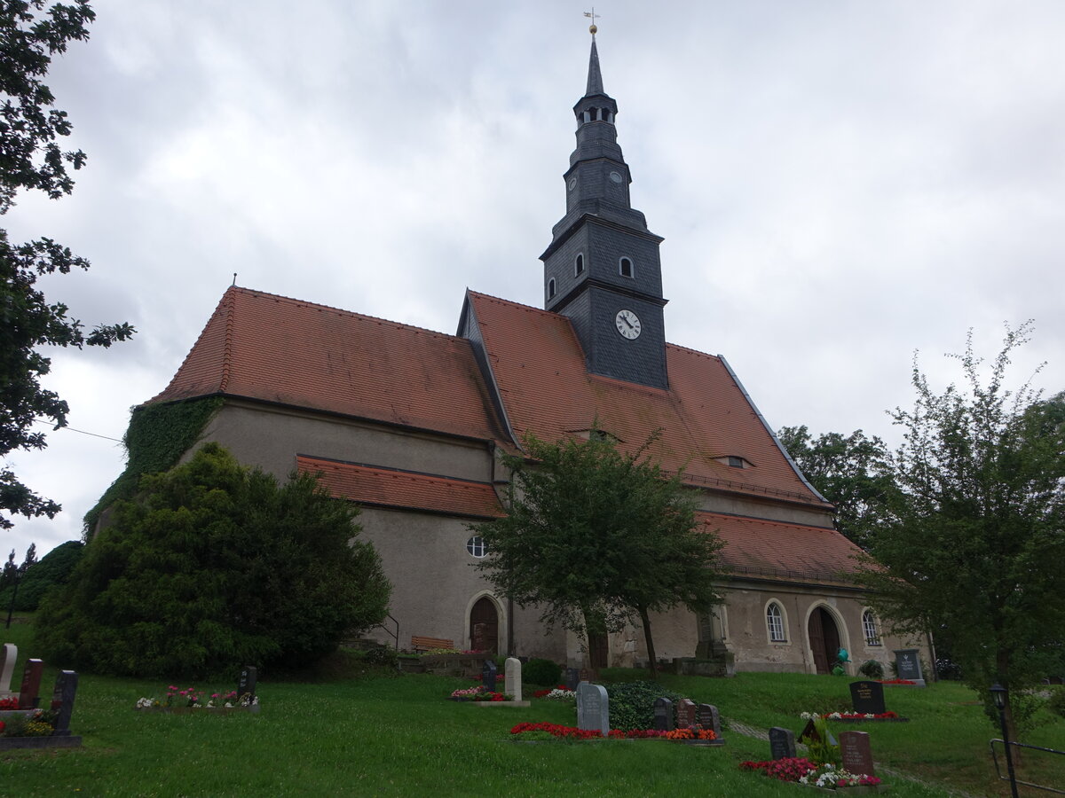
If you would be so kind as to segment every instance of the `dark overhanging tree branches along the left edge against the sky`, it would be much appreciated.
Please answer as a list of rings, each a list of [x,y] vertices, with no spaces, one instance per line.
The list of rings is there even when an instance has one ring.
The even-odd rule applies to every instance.
[[[56,138],[70,134],[66,112],[52,107],[54,97],[42,81],[52,56],[66,52],[71,40],[88,37],[94,19],[87,0],[56,3],[47,12],[44,0],[0,2],[0,214],[7,213],[20,189],[35,189],[58,199],[73,188],[67,167],[85,163],[81,150],[64,152]],[[88,261],[51,238],[11,244],[0,230],[0,458],[14,449],[43,449],[45,436],[32,432],[38,416],[54,428],[66,425],[68,405],[40,386],[50,360],[37,350],[45,345],[110,347],[134,330],[127,323],[101,325],[86,333],[62,303],[49,304],[34,286],[42,275],[88,268]],[[14,471],[0,467],[0,511],[29,517],[53,517],[60,505],[34,494]],[[0,512],[0,529],[12,521]]]

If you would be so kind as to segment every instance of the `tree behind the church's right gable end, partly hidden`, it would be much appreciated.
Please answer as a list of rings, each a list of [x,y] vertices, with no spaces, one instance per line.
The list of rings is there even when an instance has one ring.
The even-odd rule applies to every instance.
[[[884,442],[862,430],[815,438],[806,427],[784,427],[776,436],[810,484],[836,505],[836,529],[868,550],[892,484]]]

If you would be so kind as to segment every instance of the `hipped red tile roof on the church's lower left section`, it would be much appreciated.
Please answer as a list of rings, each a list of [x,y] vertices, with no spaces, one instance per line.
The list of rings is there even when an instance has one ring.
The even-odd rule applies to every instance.
[[[151,401],[211,394],[505,436],[468,340],[235,286]]]

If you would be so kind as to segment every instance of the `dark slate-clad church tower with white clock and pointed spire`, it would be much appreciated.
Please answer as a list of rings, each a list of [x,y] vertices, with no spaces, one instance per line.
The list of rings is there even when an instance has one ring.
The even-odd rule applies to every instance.
[[[617,144],[618,103],[603,89],[595,27],[588,87],[573,106],[566,216],[543,261],[544,309],[568,316],[592,373],[668,388],[661,236],[632,207],[628,165]]]

